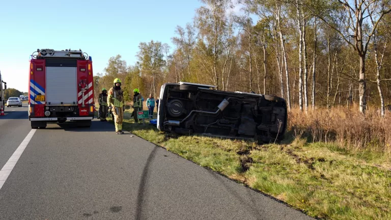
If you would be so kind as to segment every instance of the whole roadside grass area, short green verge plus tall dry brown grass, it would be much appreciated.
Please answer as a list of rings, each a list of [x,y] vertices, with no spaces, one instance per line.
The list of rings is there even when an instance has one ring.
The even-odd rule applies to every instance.
[[[151,125],[134,124],[129,110],[124,116],[124,130],[311,216],[391,219],[389,119],[363,119],[341,109],[308,116],[293,111],[284,142],[260,146],[171,137]]]

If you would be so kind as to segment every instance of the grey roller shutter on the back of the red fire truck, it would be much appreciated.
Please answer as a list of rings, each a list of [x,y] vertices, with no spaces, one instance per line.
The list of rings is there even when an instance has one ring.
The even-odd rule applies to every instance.
[[[76,104],[76,68],[69,66],[46,66],[46,103]]]

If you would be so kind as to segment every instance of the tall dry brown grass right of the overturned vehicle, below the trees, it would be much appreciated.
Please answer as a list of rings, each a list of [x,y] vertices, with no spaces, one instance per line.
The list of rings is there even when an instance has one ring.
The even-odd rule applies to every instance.
[[[289,113],[288,130],[294,138],[309,142],[332,142],[349,151],[391,157],[391,114],[382,119],[375,111],[368,111],[364,117],[356,109],[342,107],[317,109],[309,114],[296,108]]]

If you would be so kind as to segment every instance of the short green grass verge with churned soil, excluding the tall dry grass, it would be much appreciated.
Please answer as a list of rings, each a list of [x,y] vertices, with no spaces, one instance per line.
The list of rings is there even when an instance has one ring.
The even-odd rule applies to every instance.
[[[213,137],[173,137],[148,125],[148,120],[147,125],[134,124],[128,110],[124,118],[124,130],[313,217],[391,219],[391,166],[389,157],[380,153],[299,138],[259,146]]]

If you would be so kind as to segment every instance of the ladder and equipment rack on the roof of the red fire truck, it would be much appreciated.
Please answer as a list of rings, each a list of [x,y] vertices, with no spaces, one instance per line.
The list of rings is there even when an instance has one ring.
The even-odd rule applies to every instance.
[[[38,53],[38,54],[35,54]],[[79,59],[79,60],[88,60],[89,56],[87,53],[79,50],[53,50],[53,49],[37,49],[32,54],[32,57],[35,59],[48,59],[48,58],[67,58],[67,59]],[[91,58],[90,58],[91,59]]]

